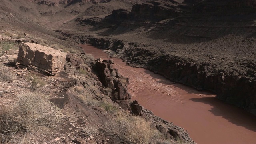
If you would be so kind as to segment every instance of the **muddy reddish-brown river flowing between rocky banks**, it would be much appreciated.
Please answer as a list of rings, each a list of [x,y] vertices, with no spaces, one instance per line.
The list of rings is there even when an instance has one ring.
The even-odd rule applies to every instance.
[[[212,93],[172,84],[149,70],[107,58],[106,53],[93,46],[82,47],[95,58],[113,59],[120,74],[129,77],[132,100],[184,128],[198,144],[256,143],[256,117],[252,114],[218,100]]]

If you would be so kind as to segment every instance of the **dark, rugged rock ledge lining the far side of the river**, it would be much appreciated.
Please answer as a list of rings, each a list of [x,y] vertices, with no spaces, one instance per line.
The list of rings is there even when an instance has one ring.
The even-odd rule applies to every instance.
[[[240,65],[225,66],[222,60],[195,60],[192,57],[161,52],[138,42],[127,42],[121,39],[90,36],[86,34],[58,31],[63,36],[73,38],[82,44],[91,44],[100,49],[115,51],[116,56],[130,66],[146,68],[169,80],[191,86],[197,90],[209,90],[217,94],[217,98],[256,115],[256,80],[247,69]],[[252,63],[253,64],[253,63]],[[246,72],[247,71],[247,72]]]

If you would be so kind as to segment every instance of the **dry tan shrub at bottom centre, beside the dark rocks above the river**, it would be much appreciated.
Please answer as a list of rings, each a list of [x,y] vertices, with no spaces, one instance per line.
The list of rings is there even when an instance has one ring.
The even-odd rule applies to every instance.
[[[159,136],[159,132],[150,127],[150,122],[135,116],[119,116],[106,123],[104,128],[110,136],[133,144],[147,144]]]

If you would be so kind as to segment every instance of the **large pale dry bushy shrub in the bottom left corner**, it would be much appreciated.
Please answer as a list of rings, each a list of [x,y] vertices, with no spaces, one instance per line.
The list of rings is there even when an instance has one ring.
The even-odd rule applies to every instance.
[[[52,127],[59,121],[58,108],[42,93],[28,92],[8,110],[0,109],[0,133],[7,142],[18,132],[36,132],[41,127]]]

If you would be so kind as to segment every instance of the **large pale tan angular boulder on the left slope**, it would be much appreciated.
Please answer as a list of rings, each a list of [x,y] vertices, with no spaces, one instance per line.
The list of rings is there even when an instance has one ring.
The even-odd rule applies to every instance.
[[[53,74],[63,70],[67,53],[40,44],[22,43],[17,62],[29,70],[43,74]]]

